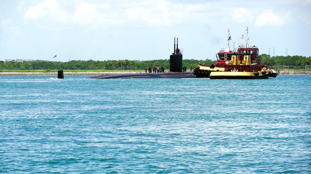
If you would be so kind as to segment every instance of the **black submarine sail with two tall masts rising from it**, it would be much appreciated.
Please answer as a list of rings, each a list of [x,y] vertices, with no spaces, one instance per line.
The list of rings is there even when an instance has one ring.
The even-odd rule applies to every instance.
[[[178,48],[178,38],[177,38],[177,48],[175,50],[175,38],[174,38],[174,53],[169,56],[169,71],[170,72],[183,72],[183,55]]]

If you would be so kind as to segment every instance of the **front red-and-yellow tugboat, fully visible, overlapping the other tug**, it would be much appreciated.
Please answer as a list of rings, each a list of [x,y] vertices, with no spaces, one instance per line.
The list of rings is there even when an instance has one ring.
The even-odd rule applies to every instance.
[[[258,47],[249,40],[248,28],[246,31],[245,46],[239,46],[238,53],[225,62],[224,71],[211,72],[210,79],[267,79],[273,74],[267,65],[262,65]]]

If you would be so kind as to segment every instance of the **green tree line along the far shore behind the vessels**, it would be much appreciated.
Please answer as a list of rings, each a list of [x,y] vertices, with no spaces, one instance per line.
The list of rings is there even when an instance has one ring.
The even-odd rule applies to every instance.
[[[293,65],[304,66],[311,65],[311,57],[305,56],[274,56],[262,54],[259,56],[264,65],[277,66],[277,65]],[[206,65],[215,64],[216,61],[206,60],[194,60],[184,59],[183,65],[190,69],[190,65],[195,68],[199,62]],[[30,70],[30,69],[106,69],[106,70],[138,70],[145,69],[145,67],[164,66],[165,69],[169,69],[169,59],[159,60],[71,60],[68,62],[56,62],[56,61],[44,61],[34,60],[32,62],[15,62],[14,60],[4,63],[0,61],[0,69],[12,69],[12,70]]]

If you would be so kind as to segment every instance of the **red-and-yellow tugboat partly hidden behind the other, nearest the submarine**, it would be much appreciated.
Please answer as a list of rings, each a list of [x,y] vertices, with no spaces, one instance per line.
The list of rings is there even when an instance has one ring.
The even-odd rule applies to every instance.
[[[214,71],[225,71],[225,62],[231,60],[231,56],[237,54],[237,52],[233,49],[230,50],[229,42],[231,40],[231,35],[228,29],[228,47],[225,49],[225,46],[221,46],[221,50],[216,54],[217,62],[215,65],[207,66],[205,64],[197,65],[195,69],[193,69],[193,74],[196,75],[197,78],[209,78],[211,72]]]

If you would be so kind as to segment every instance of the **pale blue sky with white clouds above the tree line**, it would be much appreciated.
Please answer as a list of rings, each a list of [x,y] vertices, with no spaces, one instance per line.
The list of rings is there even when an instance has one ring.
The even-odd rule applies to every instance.
[[[0,60],[215,59],[244,43],[311,56],[311,0],[0,0]],[[176,40],[177,41],[177,40]],[[52,58],[57,55],[56,58]]]

